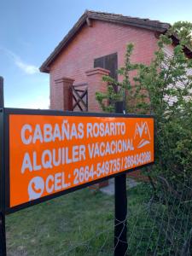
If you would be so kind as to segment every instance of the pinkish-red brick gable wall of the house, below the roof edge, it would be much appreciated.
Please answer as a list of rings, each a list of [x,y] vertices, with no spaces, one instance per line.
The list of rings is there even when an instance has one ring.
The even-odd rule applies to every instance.
[[[84,25],[50,67],[50,108],[55,108],[58,101],[55,80],[67,77],[74,79],[74,84],[83,83],[87,79],[85,72],[93,68],[94,59],[114,52],[118,53],[118,67],[121,67],[129,43],[135,45],[132,61],[149,63],[156,42],[154,32],[142,28],[99,20],[92,21],[91,27]]]

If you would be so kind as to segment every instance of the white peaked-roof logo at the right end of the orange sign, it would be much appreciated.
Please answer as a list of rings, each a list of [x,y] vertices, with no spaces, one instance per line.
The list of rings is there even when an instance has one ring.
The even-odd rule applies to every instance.
[[[145,145],[150,144],[151,137],[147,122],[141,122],[140,125],[138,123],[136,124],[134,139],[137,137],[141,139],[137,148],[143,148]]]

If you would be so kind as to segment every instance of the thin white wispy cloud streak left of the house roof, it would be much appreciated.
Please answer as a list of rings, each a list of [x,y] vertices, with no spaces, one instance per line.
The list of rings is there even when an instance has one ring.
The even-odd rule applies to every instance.
[[[19,67],[24,73],[26,74],[35,74],[39,73],[38,67],[28,64],[25,61],[22,61],[19,55],[15,55],[14,52],[12,52],[9,49],[1,48],[3,52],[9,56],[10,59],[12,59],[17,67]]]

